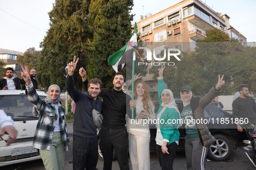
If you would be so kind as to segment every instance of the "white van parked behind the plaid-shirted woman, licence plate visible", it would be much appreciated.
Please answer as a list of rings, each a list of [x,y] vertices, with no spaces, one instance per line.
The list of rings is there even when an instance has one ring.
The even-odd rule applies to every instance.
[[[44,92],[37,93],[46,98]],[[0,137],[0,167],[41,159],[39,150],[32,146],[38,122],[38,117],[32,117],[32,108],[25,90],[0,90],[0,109],[12,117],[18,131],[16,141],[10,146],[6,146],[9,135]]]

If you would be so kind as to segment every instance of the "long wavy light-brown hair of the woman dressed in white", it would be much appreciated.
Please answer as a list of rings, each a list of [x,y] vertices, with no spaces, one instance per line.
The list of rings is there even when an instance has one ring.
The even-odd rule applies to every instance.
[[[135,88],[134,88],[134,99],[136,100],[138,98],[136,89],[137,89],[137,86],[139,85],[139,83],[142,83],[143,86],[144,86],[144,89],[145,89],[145,92],[143,94],[143,99],[142,99],[143,109],[147,110],[147,112],[150,114],[153,111],[151,106],[150,106],[151,97],[149,95],[148,86],[142,80],[137,82],[136,85],[135,85]]]

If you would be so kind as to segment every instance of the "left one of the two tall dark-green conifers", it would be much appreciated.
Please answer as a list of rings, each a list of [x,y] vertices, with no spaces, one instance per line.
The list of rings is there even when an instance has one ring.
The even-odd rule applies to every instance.
[[[65,67],[76,55],[81,62],[78,69],[86,63],[88,30],[87,16],[90,0],[56,0],[49,12],[50,28],[41,42],[42,58],[38,77],[42,86],[57,84],[65,88]],[[81,87],[78,71],[75,72],[75,85]]]

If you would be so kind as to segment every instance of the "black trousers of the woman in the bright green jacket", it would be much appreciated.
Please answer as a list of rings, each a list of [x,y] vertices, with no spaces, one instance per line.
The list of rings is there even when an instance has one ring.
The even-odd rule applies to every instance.
[[[168,148],[169,154],[167,153],[164,154],[162,152],[162,146],[156,145],[158,161],[159,161],[160,167],[162,167],[162,170],[173,170],[172,165],[173,165],[173,161],[175,158],[178,145],[176,142],[172,142],[166,147]]]

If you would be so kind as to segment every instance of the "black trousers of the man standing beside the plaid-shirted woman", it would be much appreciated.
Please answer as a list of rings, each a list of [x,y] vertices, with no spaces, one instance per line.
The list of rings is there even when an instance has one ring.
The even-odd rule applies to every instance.
[[[73,135],[73,170],[95,170],[98,162],[98,139]]]

